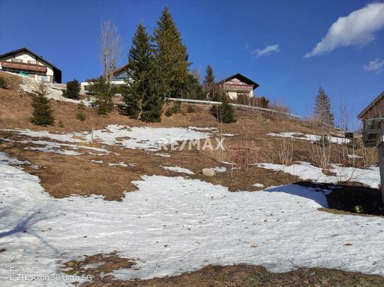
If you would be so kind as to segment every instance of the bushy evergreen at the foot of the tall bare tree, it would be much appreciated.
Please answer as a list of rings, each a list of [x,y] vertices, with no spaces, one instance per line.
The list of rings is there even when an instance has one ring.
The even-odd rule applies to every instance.
[[[113,109],[112,97],[115,94],[115,89],[108,83],[103,75],[89,82],[89,92],[95,97],[95,106],[99,115],[107,115]]]

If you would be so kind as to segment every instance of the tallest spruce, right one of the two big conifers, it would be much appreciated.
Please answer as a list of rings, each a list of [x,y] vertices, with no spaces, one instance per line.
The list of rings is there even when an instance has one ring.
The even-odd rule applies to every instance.
[[[164,97],[183,97],[188,82],[187,48],[182,44],[180,32],[165,7],[153,31],[156,66]]]

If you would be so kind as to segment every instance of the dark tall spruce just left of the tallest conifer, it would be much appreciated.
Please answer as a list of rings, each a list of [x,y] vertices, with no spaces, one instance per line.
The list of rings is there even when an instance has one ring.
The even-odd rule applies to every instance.
[[[163,98],[158,89],[153,47],[141,23],[137,26],[132,39],[128,66],[129,85],[122,90],[124,97],[124,104],[120,106],[122,114],[143,121],[161,121]]]

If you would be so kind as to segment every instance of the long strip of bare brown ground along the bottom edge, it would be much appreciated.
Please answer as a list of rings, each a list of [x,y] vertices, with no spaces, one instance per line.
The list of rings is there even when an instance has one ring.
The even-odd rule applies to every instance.
[[[286,286],[383,286],[384,277],[325,268],[301,268],[272,273],[264,267],[233,265],[208,266],[180,276],[150,280],[116,281],[104,278],[83,287],[286,287]]]

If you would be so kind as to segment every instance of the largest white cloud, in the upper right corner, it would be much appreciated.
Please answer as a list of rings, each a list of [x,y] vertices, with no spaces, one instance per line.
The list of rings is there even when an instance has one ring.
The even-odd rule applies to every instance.
[[[364,45],[375,39],[375,33],[384,28],[384,2],[368,4],[340,17],[328,30],[327,35],[304,57],[317,56],[338,47]]]

